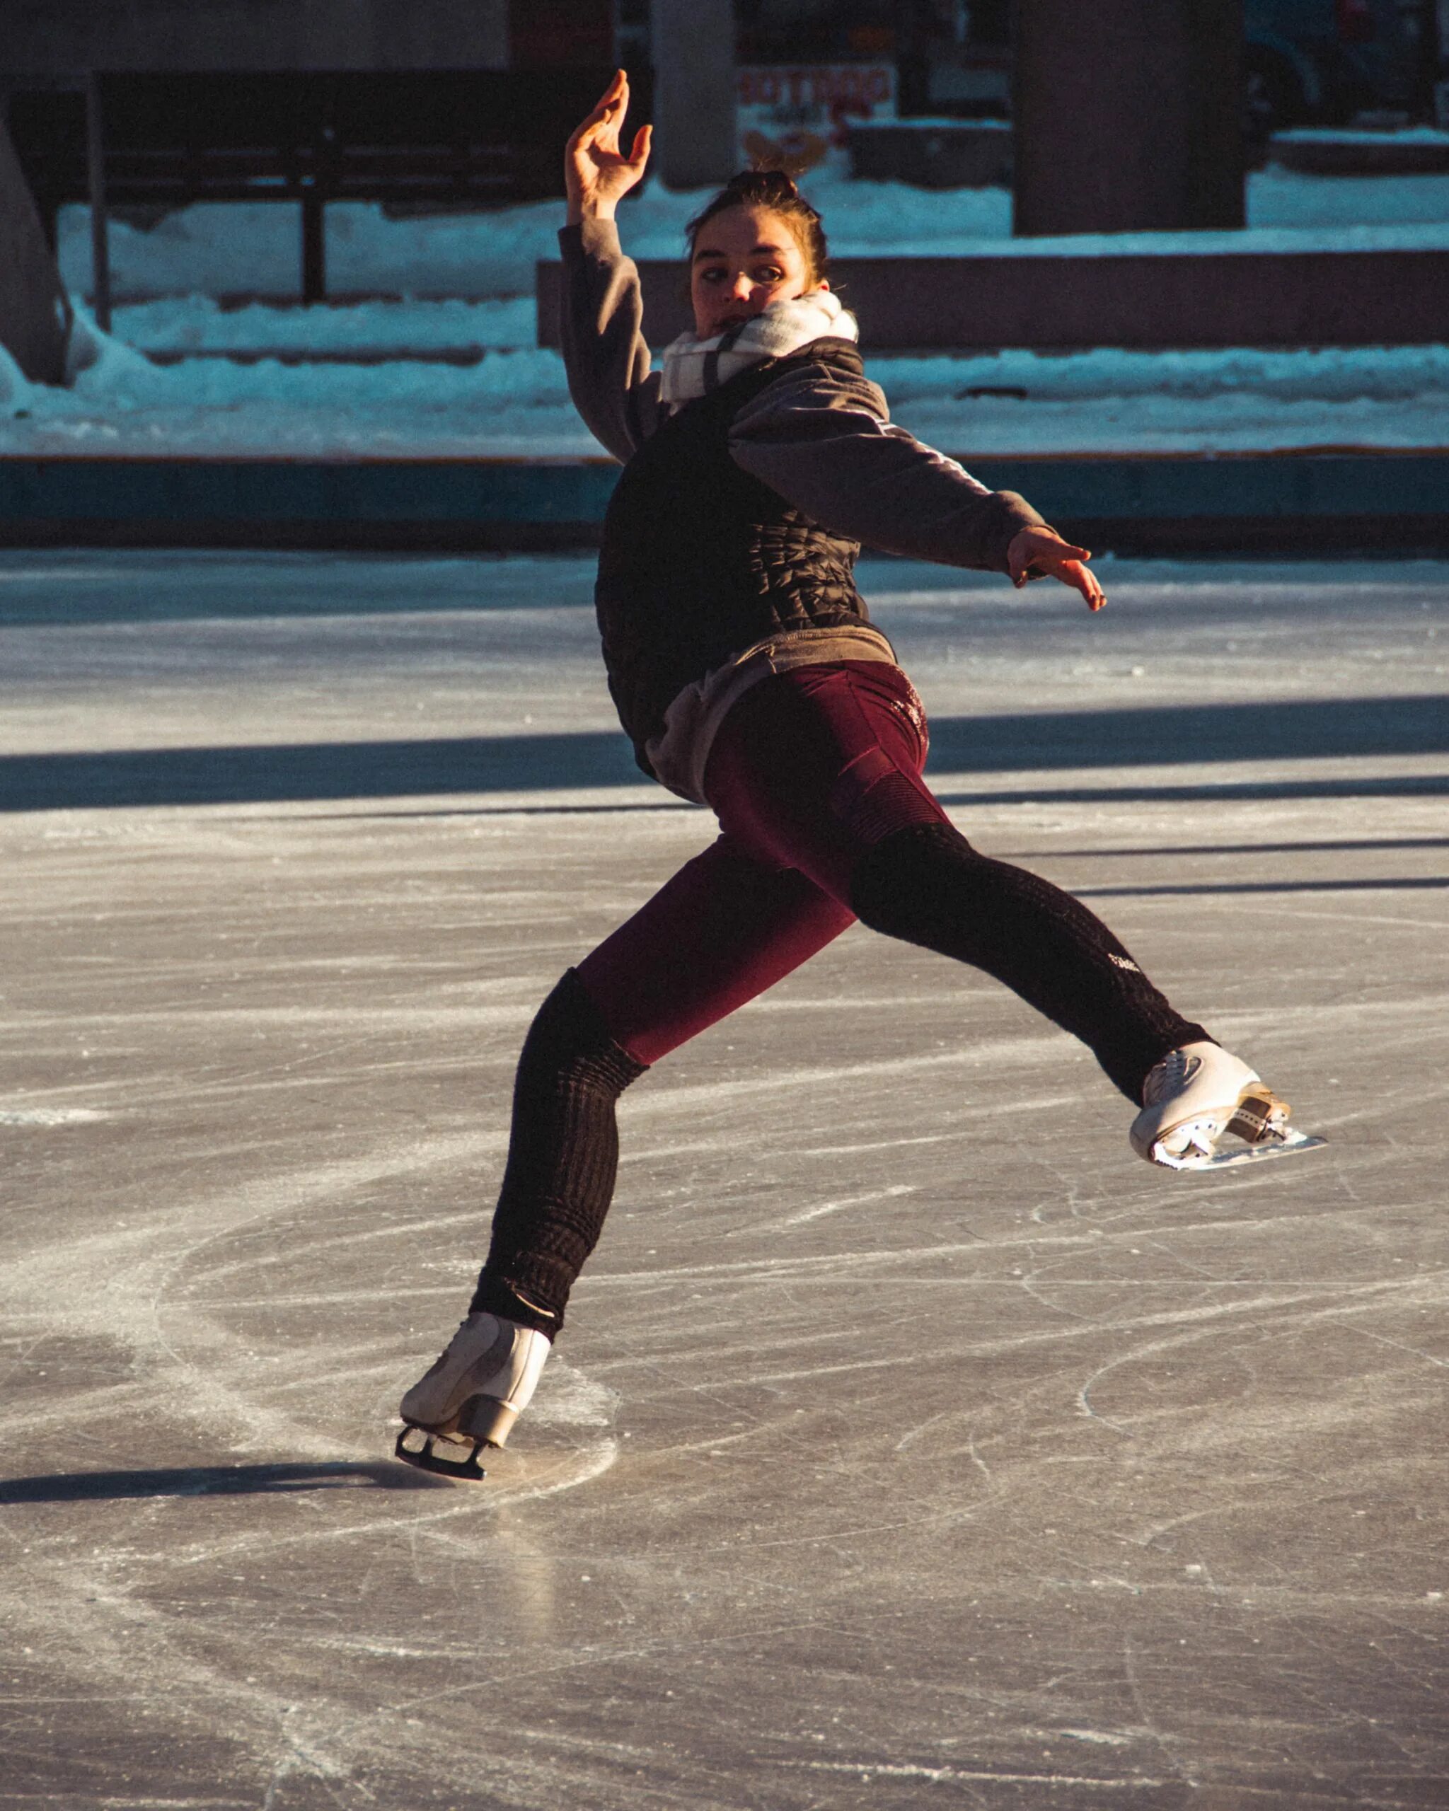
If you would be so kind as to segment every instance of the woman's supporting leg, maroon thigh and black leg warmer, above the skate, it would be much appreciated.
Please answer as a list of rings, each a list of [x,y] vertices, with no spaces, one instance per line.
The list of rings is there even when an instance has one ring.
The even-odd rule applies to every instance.
[[[518,1063],[473,1309],[558,1333],[614,1195],[619,1094],[851,922],[804,875],[761,867],[721,838],[563,976]]]

